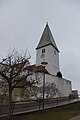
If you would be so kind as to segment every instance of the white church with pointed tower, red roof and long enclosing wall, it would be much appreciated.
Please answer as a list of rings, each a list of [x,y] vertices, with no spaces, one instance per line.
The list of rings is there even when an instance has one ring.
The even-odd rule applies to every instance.
[[[25,67],[31,72],[29,80],[36,80],[36,86],[32,88],[15,88],[13,100],[49,99],[69,97],[72,93],[78,96],[77,91],[72,90],[70,80],[63,78],[59,65],[59,49],[53,38],[48,23],[36,47],[36,63]],[[3,90],[1,89],[1,93]],[[3,93],[4,94],[4,93]],[[4,99],[5,100],[5,99]]]

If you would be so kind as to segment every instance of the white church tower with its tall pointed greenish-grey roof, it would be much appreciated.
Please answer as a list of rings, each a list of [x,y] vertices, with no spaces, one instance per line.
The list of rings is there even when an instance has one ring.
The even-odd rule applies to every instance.
[[[36,65],[41,65],[42,62],[48,63],[45,67],[50,74],[56,75],[59,72],[59,50],[48,23],[36,48]]]

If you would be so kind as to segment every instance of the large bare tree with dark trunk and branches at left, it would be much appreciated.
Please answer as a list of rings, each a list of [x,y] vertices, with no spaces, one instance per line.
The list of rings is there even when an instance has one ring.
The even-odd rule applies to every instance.
[[[26,66],[30,64],[29,59],[30,56],[27,57],[26,52],[19,54],[17,51],[13,50],[0,62],[0,77],[8,86],[9,117],[12,114],[12,92],[14,88],[31,87],[35,84],[35,80],[27,79],[29,75],[32,74],[25,69]]]

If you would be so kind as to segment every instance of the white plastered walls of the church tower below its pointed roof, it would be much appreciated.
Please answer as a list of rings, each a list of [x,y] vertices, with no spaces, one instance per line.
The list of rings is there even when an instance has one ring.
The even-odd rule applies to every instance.
[[[45,49],[45,57],[41,57],[42,49]],[[59,53],[56,50],[56,55],[54,54],[54,50],[56,50],[52,45],[48,45],[46,47],[37,49],[36,51],[36,65],[41,65],[41,62],[46,61],[48,64],[46,65],[46,69],[49,73],[56,75],[59,71]]]

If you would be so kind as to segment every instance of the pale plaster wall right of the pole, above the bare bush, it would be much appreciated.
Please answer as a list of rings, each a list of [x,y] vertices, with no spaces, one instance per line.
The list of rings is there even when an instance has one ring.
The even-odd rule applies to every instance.
[[[61,97],[69,96],[69,94],[71,94],[72,92],[72,85],[71,85],[71,81],[69,80],[66,80],[64,78],[59,78],[53,75],[45,75],[45,82],[47,81],[51,83],[55,83],[56,87],[61,93],[60,94]]]

